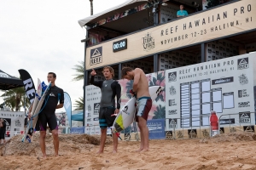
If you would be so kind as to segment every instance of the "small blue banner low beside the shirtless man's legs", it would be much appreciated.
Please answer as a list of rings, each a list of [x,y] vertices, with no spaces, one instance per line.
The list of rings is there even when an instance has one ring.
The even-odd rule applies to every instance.
[[[165,119],[153,119],[147,122],[149,139],[166,139]]]

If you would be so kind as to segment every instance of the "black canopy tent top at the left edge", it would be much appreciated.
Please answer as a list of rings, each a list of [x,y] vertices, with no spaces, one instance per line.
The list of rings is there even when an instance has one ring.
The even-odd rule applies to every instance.
[[[23,87],[23,82],[19,78],[12,77],[0,70],[0,89],[9,90],[11,88]]]

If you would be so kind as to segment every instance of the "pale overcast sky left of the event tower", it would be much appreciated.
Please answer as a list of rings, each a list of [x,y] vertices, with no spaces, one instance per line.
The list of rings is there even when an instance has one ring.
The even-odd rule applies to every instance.
[[[94,0],[94,14],[125,1]],[[78,20],[87,16],[90,0],[0,0],[0,70],[20,77],[18,70],[25,69],[35,84],[38,78],[47,82],[53,71],[56,86],[74,103],[83,96],[83,81],[72,81],[73,66],[84,60],[80,41],[85,35]]]

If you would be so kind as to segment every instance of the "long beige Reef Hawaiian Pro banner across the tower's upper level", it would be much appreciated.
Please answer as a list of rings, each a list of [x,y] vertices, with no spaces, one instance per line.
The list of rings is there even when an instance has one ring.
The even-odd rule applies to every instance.
[[[183,19],[138,31],[112,41],[102,42],[87,48],[85,69],[113,65],[174,48],[250,31],[256,28],[256,22],[253,21],[255,16],[256,1],[243,0],[189,15]],[[114,53],[113,42],[125,38],[129,50]],[[247,67],[243,62],[240,62],[239,69],[241,70]]]

